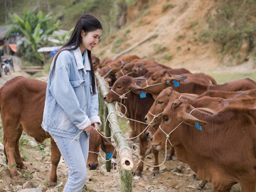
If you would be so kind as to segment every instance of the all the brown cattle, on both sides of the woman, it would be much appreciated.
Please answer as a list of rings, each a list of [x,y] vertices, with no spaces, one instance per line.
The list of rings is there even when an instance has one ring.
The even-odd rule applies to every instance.
[[[199,179],[213,183],[214,191],[230,191],[235,183],[244,192],[255,191],[256,82],[242,79],[217,85],[210,75],[169,68],[137,55],[101,61],[92,56],[92,61],[111,87],[104,100],[122,102],[122,112],[139,121],[129,121],[130,137],[140,134],[142,161],[134,174],[142,174],[149,149],[154,165],[159,165],[159,151],[168,148],[167,159],[176,154]],[[37,142],[50,138],[50,185],[54,186],[60,151],[41,128],[45,97],[46,82],[16,77],[0,89],[0,110],[11,177],[18,177],[16,167],[25,168],[18,149],[24,131]],[[141,123],[145,121],[150,126]],[[97,132],[90,132],[90,137],[95,139],[90,139],[87,165],[96,169],[100,146],[106,153],[115,150]],[[159,174],[159,166],[153,174]]]

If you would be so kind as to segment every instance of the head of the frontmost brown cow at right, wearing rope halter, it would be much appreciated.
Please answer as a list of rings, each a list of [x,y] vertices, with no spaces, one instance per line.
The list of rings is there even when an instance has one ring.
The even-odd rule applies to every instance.
[[[161,129],[157,129],[156,133],[151,138],[151,144],[154,146],[154,149],[164,149],[165,144],[167,144],[167,147],[171,147],[171,144],[176,146],[178,144],[177,138],[179,138],[179,134],[181,134],[181,138],[184,137],[181,131],[186,124],[191,127],[195,127],[196,123],[201,126],[207,124],[206,122],[193,117],[193,114],[190,114],[193,109],[194,108],[191,105],[188,105],[187,100],[182,99],[175,100],[164,109],[160,125]],[[169,139],[171,144],[168,141],[166,142],[166,134],[170,134]]]

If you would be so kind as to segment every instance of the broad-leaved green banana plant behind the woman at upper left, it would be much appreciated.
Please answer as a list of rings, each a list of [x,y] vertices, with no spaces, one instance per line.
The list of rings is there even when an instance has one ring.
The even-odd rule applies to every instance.
[[[21,33],[24,38],[21,38],[23,43],[18,48],[20,54],[29,62],[43,64],[43,56],[37,50],[41,46],[46,46],[50,43],[48,38],[58,28],[59,22],[55,22],[55,19],[50,14],[43,16],[43,12],[36,11],[36,9],[32,11],[24,9],[22,17],[13,14],[11,18],[14,24],[7,36]]]

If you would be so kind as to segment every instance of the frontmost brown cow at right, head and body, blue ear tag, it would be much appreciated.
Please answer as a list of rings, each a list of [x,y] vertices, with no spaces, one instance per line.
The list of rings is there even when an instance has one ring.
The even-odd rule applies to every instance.
[[[152,137],[154,148],[163,149],[169,139],[177,158],[213,183],[215,192],[230,191],[238,182],[243,192],[255,191],[256,109],[225,107],[216,114],[195,109],[182,99],[168,105]]]

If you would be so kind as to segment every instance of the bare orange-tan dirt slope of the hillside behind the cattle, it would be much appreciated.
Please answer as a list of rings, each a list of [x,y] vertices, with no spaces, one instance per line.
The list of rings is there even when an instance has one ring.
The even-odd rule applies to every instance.
[[[231,52],[222,55],[221,46],[212,40],[199,41],[201,30],[208,28],[206,18],[216,14],[216,4],[203,0],[138,1],[128,9],[124,27],[100,43],[95,53],[100,58],[112,58],[155,34],[125,55],[136,54],[193,72],[255,72],[256,59],[248,54],[246,42],[235,57]]]

